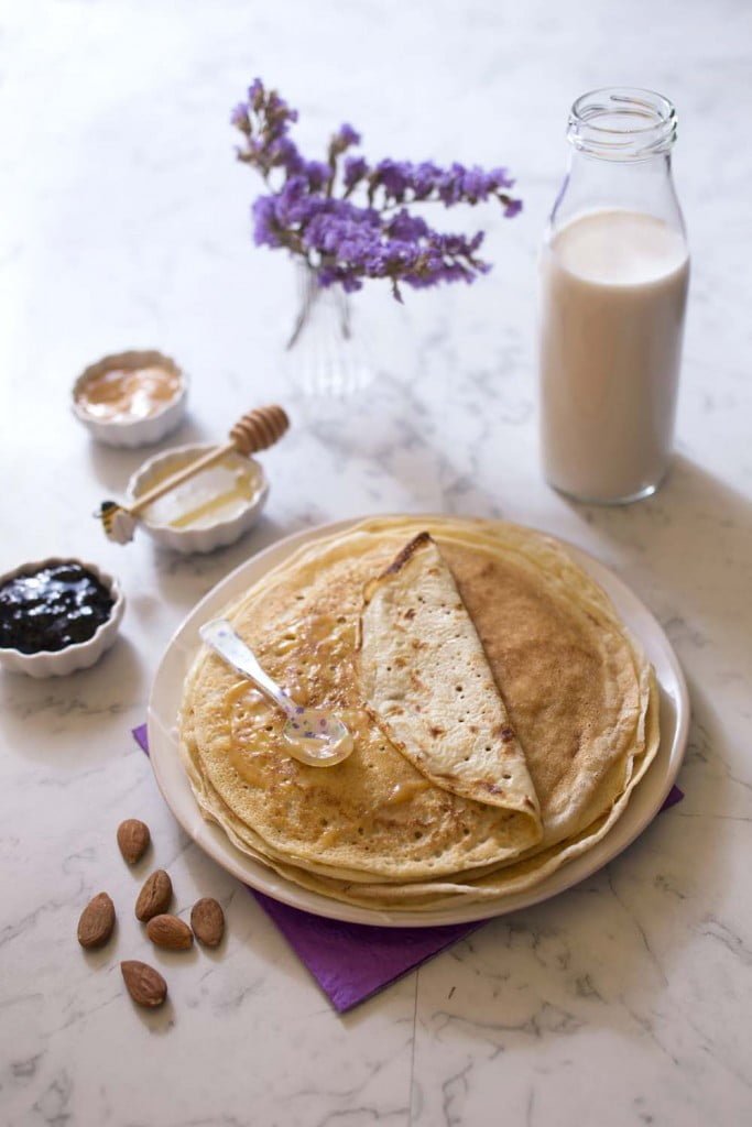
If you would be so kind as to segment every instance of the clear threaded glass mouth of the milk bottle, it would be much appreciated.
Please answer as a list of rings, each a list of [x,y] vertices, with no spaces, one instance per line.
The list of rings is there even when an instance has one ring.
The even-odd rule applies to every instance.
[[[676,140],[676,110],[652,90],[609,87],[577,98],[567,140],[603,160],[647,160],[669,152]]]

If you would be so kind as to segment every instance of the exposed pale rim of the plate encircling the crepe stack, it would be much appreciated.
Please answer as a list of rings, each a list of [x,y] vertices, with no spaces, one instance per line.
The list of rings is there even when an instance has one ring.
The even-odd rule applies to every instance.
[[[203,817],[196,804],[193,790],[191,789],[185,769],[183,764],[179,763],[178,767],[182,773],[183,789],[188,791],[193,807],[191,817],[188,817],[187,814],[183,816],[183,811],[179,808],[180,796],[172,793],[174,784],[169,779],[167,770],[165,769],[165,763],[162,762],[162,755],[167,754],[162,749],[162,738],[172,745],[175,744],[175,739],[167,733],[162,735],[162,731],[160,730],[162,727],[161,722],[158,726],[158,707],[156,704],[156,698],[161,689],[161,682],[168,675],[168,664],[171,655],[177,647],[182,646],[184,637],[194,629],[194,623],[196,623],[196,621],[203,618],[206,613],[203,609],[207,607],[210,604],[223,604],[228,602],[229,598],[232,597],[231,588],[240,580],[241,577],[245,577],[247,571],[257,571],[260,567],[262,571],[256,576],[256,579],[258,579],[262,575],[268,573],[273,567],[283,562],[285,558],[289,558],[289,556],[300,547],[315,543],[317,540],[338,532],[345,532],[366,520],[387,520],[392,516],[408,516],[416,521],[430,522],[432,520],[444,520],[448,516],[455,517],[457,514],[378,513],[366,516],[343,517],[325,524],[299,529],[298,531],[292,532],[286,536],[282,536],[280,540],[274,541],[274,543],[268,544],[260,551],[249,556],[248,559],[244,560],[229,571],[228,575],[214,584],[214,586],[211,587],[210,591],[207,591],[206,594],[203,595],[202,598],[200,598],[198,602],[195,603],[195,605],[184,616],[161,653],[151,682],[147,710],[147,730],[149,735],[150,749],[149,758],[157,786],[159,787],[162,798],[165,799],[168,809],[170,810],[172,817],[177,820],[178,825],[192,838],[192,841],[195,842],[201,850],[203,850],[204,853],[212,858],[212,860],[220,864],[227,872],[230,872],[231,876],[247,885],[251,891],[269,896],[290,907],[297,908],[298,911],[309,912],[313,915],[346,923],[366,924],[381,928],[435,928],[445,926],[448,924],[457,925],[465,923],[478,923],[484,920],[496,919],[498,916],[507,915],[511,912],[517,912],[522,908],[541,904],[554,896],[558,896],[560,893],[567,891],[569,888],[581,884],[583,880],[589,879],[611,861],[616,860],[616,858],[623,853],[625,850],[627,850],[645,832],[645,829],[653,822],[654,817],[661,810],[661,807],[671,792],[671,788],[673,787],[679,771],[681,770],[687,749],[690,720],[689,690],[676,653],[663,630],[663,627],[639,595],[632,591],[632,588],[618,573],[612,570],[612,568],[608,567],[605,564],[602,564],[596,557],[592,556],[589,551],[572,541],[566,540],[563,536],[557,536],[545,530],[533,529],[525,525],[525,527],[530,527],[532,532],[538,532],[542,535],[549,536],[558,543],[564,544],[564,547],[573,553],[576,561],[585,568],[589,575],[591,575],[596,583],[604,587],[607,594],[610,598],[612,598],[612,601],[614,601],[614,603],[617,600],[614,600],[613,589],[616,589],[619,600],[626,600],[627,603],[631,603],[632,610],[644,616],[652,633],[649,641],[662,650],[662,656],[666,660],[671,675],[673,676],[673,685],[670,686],[673,692],[670,692],[669,687],[664,684],[664,681],[656,671],[656,680],[658,682],[661,693],[662,713],[665,711],[663,706],[665,706],[667,699],[674,700],[675,709],[670,731],[666,731],[662,717],[661,740],[656,757],[645,773],[644,779],[642,779],[635,788],[635,792],[630,796],[627,809],[614,826],[609,831],[605,837],[598,842],[591,850],[587,850],[584,854],[575,858],[569,863],[564,864],[560,869],[557,869],[549,877],[546,877],[540,881],[540,884],[533,886],[532,888],[511,896],[499,896],[496,902],[486,900],[458,905],[455,909],[441,908],[435,913],[418,913],[414,911],[395,913],[381,908],[360,907],[357,905],[345,904],[340,900],[331,899],[322,894],[313,893],[309,889],[294,885],[292,881],[289,881],[277,875],[273,869],[266,869],[266,867],[260,862],[254,861],[247,854],[244,854],[240,850],[238,850],[230,842],[229,837],[220,826],[207,822]],[[475,517],[461,516],[457,518],[471,521]],[[218,609],[219,607],[214,607],[211,613],[215,613]],[[618,605],[617,610],[619,611],[620,616],[622,616],[621,610]],[[644,637],[634,631],[629,623],[626,624],[627,628],[635,633],[639,644],[645,646]],[[195,625],[195,630],[197,633],[197,625]],[[665,744],[669,739],[670,747],[666,749]],[[175,747],[172,747],[171,754],[175,754]],[[667,762],[664,770],[656,775],[654,769],[658,762],[666,756]],[[646,783],[651,784],[651,797],[647,804],[645,802],[645,796],[647,792]],[[178,782],[178,787],[179,786],[180,783]],[[640,799],[646,808],[644,811],[639,811],[637,816],[635,816],[634,811]],[[630,811],[632,813],[631,818]],[[634,822],[635,825],[630,825],[630,822]],[[627,826],[626,834],[625,826]],[[617,831],[619,829],[620,833],[617,834]],[[618,842],[616,848],[613,848],[614,841]],[[609,843],[611,844],[611,849],[609,849]],[[603,853],[607,855],[604,855],[601,860],[598,860]],[[593,863],[593,858],[595,858],[595,863]]]

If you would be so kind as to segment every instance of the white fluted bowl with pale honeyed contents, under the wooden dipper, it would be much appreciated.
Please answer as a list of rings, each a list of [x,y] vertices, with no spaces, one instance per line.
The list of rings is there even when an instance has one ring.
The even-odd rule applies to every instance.
[[[193,444],[156,454],[129,481],[129,499],[136,500],[213,449]],[[239,540],[256,524],[268,490],[263,467],[232,452],[149,505],[140,523],[156,543],[174,551],[211,552]]]

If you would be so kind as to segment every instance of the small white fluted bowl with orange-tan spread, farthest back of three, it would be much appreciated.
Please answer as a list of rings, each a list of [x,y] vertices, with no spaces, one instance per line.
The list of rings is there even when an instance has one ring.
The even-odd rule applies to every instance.
[[[188,382],[153,348],[115,353],[89,365],[73,384],[73,415],[96,442],[148,446],[179,426]]]

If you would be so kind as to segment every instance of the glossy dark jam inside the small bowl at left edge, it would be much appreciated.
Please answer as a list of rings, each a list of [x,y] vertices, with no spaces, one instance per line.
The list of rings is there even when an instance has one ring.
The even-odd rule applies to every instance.
[[[55,653],[88,641],[112,614],[108,588],[80,564],[50,564],[0,586],[0,647]]]

